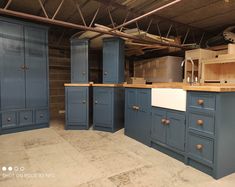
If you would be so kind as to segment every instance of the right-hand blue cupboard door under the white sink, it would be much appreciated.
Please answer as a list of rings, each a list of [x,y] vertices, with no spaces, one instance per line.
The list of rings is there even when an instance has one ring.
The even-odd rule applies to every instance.
[[[185,115],[173,111],[167,112],[167,144],[178,150],[185,149]]]

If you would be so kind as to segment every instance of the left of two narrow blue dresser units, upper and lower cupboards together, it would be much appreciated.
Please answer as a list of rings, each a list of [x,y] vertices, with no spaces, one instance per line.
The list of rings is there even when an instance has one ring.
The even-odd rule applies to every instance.
[[[66,130],[89,129],[92,90],[89,84],[89,40],[71,39],[71,83],[65,86]]]

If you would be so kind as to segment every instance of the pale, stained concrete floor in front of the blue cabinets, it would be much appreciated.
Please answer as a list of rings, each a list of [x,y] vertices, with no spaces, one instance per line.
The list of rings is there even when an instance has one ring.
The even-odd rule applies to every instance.
[[[65,131],[62,122],[0,136],[0,166],[1,187],[235,186],[235,174],[214,180],[123,130]]]

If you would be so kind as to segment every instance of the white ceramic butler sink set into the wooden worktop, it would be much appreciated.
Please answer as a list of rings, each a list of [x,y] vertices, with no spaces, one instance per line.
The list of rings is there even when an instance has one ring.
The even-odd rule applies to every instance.
[[[152,88],[152,106],[186,111],[186,91],[179,88]]]

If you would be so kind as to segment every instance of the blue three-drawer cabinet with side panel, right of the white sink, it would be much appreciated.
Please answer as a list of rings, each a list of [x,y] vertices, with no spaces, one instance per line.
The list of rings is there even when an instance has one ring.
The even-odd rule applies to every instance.
[[[218,179],[235,172],[235,93],[187,93],[187,164]]]

